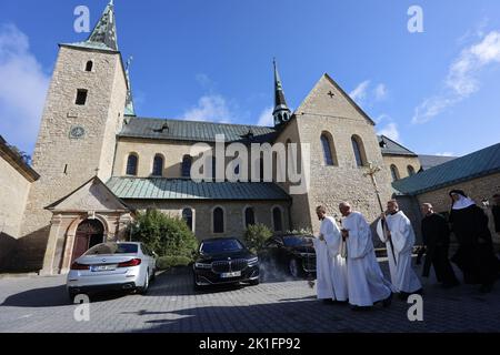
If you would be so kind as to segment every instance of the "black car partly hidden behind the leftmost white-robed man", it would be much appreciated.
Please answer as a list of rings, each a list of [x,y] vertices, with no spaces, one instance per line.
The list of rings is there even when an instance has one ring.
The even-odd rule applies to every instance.
[[[311,235],[280,235],[271,237],[260,252],[261,266],[273,273],[276,268],[292,277],[316,275],[316,252]]]

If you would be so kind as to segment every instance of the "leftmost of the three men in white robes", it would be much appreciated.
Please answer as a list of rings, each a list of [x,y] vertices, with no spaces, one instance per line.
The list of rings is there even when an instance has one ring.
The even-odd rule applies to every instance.
[[[316,213],[321,221],[320,236],[313,242],[317,254],[318,298],[347,302],[347,265],[346,258],[340,255],[340,230],[336,220],[327,216],[324,206],[319,206]]]

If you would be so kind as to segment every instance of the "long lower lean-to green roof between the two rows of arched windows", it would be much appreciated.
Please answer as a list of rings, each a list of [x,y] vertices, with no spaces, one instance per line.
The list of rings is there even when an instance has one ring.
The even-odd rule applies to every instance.
[[[200,182],[164,178],[111,178],[108,187],[124,200],[272,200],[290,196],[274,183]]]

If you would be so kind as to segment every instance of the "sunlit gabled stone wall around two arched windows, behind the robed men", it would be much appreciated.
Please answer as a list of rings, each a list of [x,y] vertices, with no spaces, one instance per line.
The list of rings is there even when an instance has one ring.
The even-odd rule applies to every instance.
[[[321,78],[296,114],[300,141],[309,143],[311,150],[309,203],[303,206],[303,212],[310,215],[313,231],[319,231],[316,207],[323,204],[329,214],[340,216],[338,205],[342,201],[350,202],[353,210],[363,213],[369,223],[373,222],[380,215],[379,204],[370,178],[363,176],[367,168],[357,165],[351,138],[360,138],[366,163],[383,166],[374,125],[327,75]],[[336,161],[332,166],[324,163],[322,133],[331,136]],[[389,171],[383,169],[377,180],[382,201],[390,200]]]

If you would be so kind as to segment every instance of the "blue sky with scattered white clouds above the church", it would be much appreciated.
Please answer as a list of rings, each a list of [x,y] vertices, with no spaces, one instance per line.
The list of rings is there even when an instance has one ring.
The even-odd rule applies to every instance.
[[[31,152],[57,43],[87,39],[107,0],[0,1],[0,134]],[[423,10],[423,33],[407,11]],[[270,122],[272,58],[297,108],[328,72],[422,154],[463,155],[500,140],[500,1],[116,0],[118,41],[139,115]]]

